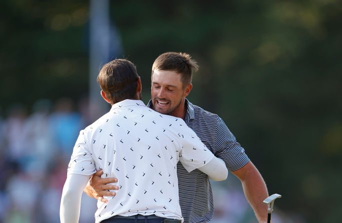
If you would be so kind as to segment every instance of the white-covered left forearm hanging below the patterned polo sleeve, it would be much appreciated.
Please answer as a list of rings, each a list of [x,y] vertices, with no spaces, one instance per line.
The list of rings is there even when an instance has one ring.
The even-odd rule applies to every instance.
[[[68,174],[63,187],[60,218],[61,223],[78,223],[80,218],[81,196],[90,176]]]

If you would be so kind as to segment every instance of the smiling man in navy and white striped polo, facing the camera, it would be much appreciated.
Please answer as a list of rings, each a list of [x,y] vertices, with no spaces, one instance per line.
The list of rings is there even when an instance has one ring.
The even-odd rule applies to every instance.
[[[197,70],[198,65],[189,54],[166,52],[158,56],[152,66],[152,99],[148,106],[162,114],[182,118],[207,148],[240,179],[258,222],[266,223],[267,206],[262,201],[268,193],[259,171],[218,115],[193,105],[185,98],[192,88],[192,72]],[[214,215],[214,203],[208,176],[197,170],[187,173],[180,163],[177,165],[177,175],[184,223],[210,222]],[[115,181],[117,179],[104,180],[95,175],[85,192],[106,202],[102,196],[108,195],[105,190],[112,187],[105,184]]]

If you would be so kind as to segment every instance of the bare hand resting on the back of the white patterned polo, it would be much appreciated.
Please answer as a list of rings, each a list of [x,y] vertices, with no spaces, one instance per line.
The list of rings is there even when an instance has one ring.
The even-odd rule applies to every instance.
[[[108,190],[119,190],[118,186],[110,185],[110,183],[117,183],[118,179],[116,178],[101,178],[103,175],[103,170],[98,170],[96,173],[89,179],[87,187],[84,189],[84,192],[91,198],[95,198],[101,202],[108,203],[108,200],[103,198],[103,196],[115,196],[115,192],[110,192]]]

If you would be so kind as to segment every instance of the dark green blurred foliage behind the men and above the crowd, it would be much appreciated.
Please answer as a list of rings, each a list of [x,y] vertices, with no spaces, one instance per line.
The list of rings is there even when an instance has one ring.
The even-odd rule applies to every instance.
[[[87,96],[89,2],[0,5],[2,115],[15,103]],[[189,99],[223,118],[269,193],[283,195],[276,206],[310,223],[340,221],[341,1],[126,0],[110,13],[145,102],[154,59],[190,53],[200,69]]]

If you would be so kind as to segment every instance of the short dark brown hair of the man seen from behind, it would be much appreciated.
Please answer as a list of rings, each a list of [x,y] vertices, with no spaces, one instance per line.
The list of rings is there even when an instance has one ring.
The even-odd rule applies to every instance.
[[[137,90],[137,80],[137,69],[127,59],[115,59],[106,63],[97,77],[97,82],[111,104],[133,99]]]

